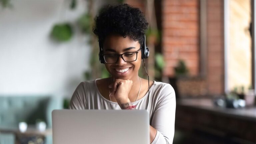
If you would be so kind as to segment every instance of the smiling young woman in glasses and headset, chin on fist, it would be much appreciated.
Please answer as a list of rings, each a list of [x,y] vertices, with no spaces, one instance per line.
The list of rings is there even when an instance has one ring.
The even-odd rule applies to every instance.
[[[138,8],[128,4],[105,6],[95,18],[100,62],[111,77],[81,82],[70,109],[147,109],[150,143],[171,144],[174,136],[175,92],[170,84],[138,76],[147,58],[148,23]],[[148,93],[149,90],[149,93]]]

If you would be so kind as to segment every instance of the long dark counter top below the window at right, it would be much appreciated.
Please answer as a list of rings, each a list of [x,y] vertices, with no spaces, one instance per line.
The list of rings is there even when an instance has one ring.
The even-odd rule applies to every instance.
[[[179,99],[177,100],[177,105],[180,106],[189,106],[193,108],[198,108],[202,110],[217,112],[221,114],[246,118],[250,120],[256,121],[256,107],[248,107],[248,108],[224,108],[218,107],[214,105],[212,99]]]

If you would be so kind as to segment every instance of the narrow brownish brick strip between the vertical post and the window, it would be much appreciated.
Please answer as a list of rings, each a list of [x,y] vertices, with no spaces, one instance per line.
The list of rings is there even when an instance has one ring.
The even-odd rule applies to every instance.
[[[223,0],[207,1],[207,89],[224,93]]]

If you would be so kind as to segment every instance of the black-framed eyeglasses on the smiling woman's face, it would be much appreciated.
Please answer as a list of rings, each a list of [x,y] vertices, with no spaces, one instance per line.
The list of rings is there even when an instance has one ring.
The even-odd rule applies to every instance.
[[[105,63],[116,63],[118,61],[118,58],[121,57],[125,62],[133,62],[137,60],[137,55],[140,49],[136,52],[127,52],[123,54],[104,54],[104,61]]]

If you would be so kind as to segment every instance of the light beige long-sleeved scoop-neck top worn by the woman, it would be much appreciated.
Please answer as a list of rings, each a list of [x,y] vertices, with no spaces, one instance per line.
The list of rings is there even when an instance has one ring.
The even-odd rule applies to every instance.
[[[70,109],[121,109],[118,103],[109,101],[101,95],[96,80],[81,82],[77,86],[70,101]],[[150,125],[157,130],[152,144],[171,144],[176,109],[174,89],[170,84],[154,81],[149,92],[147,111],[150,115]],[[148,93],[132,104],[137,105],[136,109],[146,109],[147,100]]]

